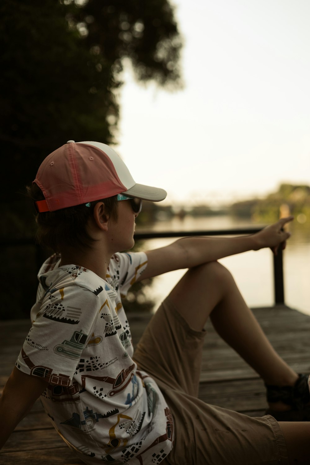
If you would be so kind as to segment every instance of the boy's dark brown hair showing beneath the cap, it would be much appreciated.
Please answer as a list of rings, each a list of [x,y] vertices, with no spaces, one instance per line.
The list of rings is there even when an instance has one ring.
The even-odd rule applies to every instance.
[[[26,193],[33,202],[44,200],[44,195],[37,184],[26,186]],[[54,252],[60,252],[61,248],[80,247],[92,248],[93,239],[87,231],[88,220],[92,217],[96,203],[104,202],[106,213],[114,221],[118,219],[118,207],[116,196],[107,199],[94,200],[85,204],[62,208],[55,212],[37,213],[36,241],[41,246],[47,246]]]

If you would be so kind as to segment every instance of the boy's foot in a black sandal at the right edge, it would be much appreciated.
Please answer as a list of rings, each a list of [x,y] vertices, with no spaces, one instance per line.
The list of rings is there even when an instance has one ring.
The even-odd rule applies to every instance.
[[[293,386],[267,385],[266,415],[277,421],[310,421],[310,392],[308,376],[299,374]]]

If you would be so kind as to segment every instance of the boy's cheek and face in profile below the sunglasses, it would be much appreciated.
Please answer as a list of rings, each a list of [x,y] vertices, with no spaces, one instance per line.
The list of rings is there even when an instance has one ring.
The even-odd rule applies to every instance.
[[[118,219],[110,219],[108,227],[108,237],[112,252],[122,252],[129,250],[134,245],[133,234],[135,232],[135,219],[138,213],[134,213],[130,200],[118,202]]]

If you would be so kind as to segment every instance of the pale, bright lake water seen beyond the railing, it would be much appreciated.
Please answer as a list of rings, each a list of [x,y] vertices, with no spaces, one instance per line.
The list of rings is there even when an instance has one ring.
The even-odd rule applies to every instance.
[[[199,231],[231,229],[257,226],[249,220],[234,219],[231,216],[194,218],[189,215],[169,221],[158,221],[152,231]],[[259,226],[259,225],[258,225]],[[139,226],[137,232],[150,230]],[[296,220],[290,224],[290,237],[284,251],[284,300],[285,304],[310,315],[310,226],[300,225]],[[170,244],[175,239],[149,239],[145,248],[153,249]],[[272,306],[273,256],[270,249],[249,251],[220,259],[233,274],[245,301],[251,307]],[[156,302],[155,308],[178,282],[184,270],[177,270],[153,279],[150,296]]]

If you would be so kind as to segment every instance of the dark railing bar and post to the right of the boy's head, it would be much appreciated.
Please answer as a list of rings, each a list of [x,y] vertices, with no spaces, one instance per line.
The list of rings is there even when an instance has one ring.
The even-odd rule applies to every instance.
[[[258,233],[262,227],[238,228],[238,229],[220,229],[211,231],[146,231],[137,232],[134,235],[135,240],[139,239],[164,239],[179,238],[189,236],[238,236]],[[270,251],[270,253],[272,253]],[[273,280],[274,280],[274,304],[284,305],[284,279],[283,279],[283,252],[279,247],[277,255],[273,255]]]

